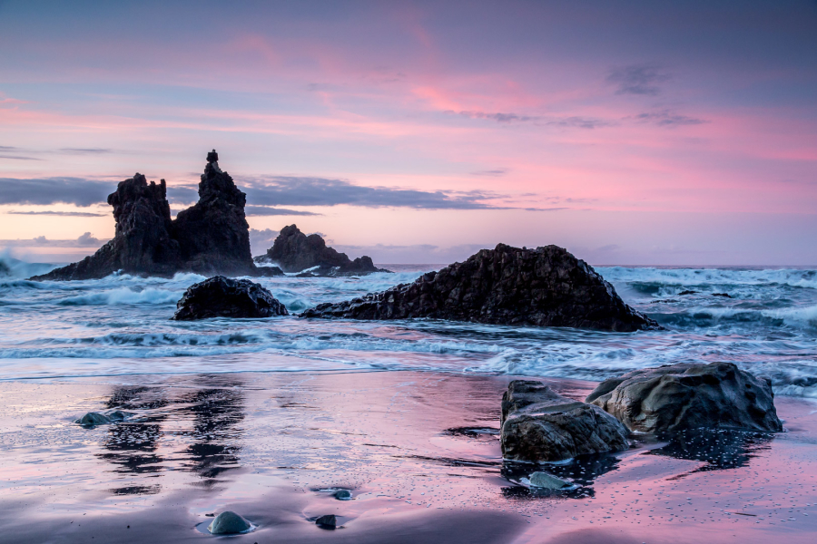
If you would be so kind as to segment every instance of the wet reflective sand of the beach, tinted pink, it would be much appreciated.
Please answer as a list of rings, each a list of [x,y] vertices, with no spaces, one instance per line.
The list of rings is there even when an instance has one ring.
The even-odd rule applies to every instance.
[[[690,435],[552,465],[530,491],[503,463],[507,376],[420,372],[0,382],[0,542],[813,542],[817,403],[788,432]],[[543,379],[584,398],[595,384]],[[123,384],[124,382],[124,384]],[[82,428],[89,411],[135,413]],[[353,500],[330,490],[349,489]],[[323,514],[342,529],[318,528]]]

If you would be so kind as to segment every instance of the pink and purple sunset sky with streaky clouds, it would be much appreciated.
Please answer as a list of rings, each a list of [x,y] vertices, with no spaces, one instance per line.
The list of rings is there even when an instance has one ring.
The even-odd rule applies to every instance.
[[[815,52],[814,0],[0,0],[0,248],[93,253],[216,149],[255,255],[817,265]]]

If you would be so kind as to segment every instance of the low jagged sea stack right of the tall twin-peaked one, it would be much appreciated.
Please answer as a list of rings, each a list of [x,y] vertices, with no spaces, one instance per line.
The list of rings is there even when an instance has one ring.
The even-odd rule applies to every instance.
[[[255,262],[271,263],[284,272],[303,272],[309,276],[362,276],[374,272],[389,272],[374,266],[371,257],[349,259],[345,253],[328,248],[320,235],[302,233],[295,225],[284,227],[275,238],[266,255],[255,257]]]

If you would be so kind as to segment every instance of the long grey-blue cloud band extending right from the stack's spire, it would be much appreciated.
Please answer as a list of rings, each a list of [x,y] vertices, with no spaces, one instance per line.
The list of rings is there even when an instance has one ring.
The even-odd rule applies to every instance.
[[[247,200],[261,206],[362,206],[367,208],[413,209],[508,209],[486,200],[502,199],[489,191],[424,191],[365,187],[346,180],[270,176],[251,180],[241,188]]]

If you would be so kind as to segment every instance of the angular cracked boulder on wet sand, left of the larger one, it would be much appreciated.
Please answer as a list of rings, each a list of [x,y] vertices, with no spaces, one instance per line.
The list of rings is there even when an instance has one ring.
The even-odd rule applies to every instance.
[[[500,422],[502,456],[508,460],[561,461],[629,447],[625,426],[609,413],[535,381],[508,384]]]

